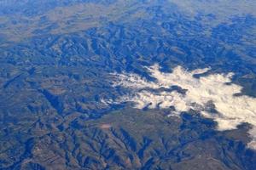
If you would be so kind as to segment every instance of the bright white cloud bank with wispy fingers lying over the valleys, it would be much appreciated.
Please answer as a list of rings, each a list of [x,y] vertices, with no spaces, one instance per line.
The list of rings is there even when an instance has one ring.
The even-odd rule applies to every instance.
[[[185,71],[177,66],[172,73],[164,73],[159,65],[153,65],[148,71],[154,82],[137,74],[113,74],[116,77],[113,86],[130,88],[131,94],[108,102],[130,101],[138,109],[172,106],[177,113],[199,111],[218,122],[218,130],[235,129],[242,122],[248,122],[253,126],[249,132],[253,140],[248,146],[256,149],[256,99],[234,95],[241,93],[241,86],[231,83],[233,73],[194,77],[208,70]]]

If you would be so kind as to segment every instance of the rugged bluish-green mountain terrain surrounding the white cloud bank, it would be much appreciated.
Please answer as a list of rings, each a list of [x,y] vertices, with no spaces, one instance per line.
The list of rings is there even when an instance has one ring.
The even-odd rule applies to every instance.
[[[127,93],[111,73],[154,81],[154,63],[234,72],[238,95],[256,97],[255,7],[0,1],[0,169],[255,169],[249,124],[219,132],[195,111],[102,103]]]

